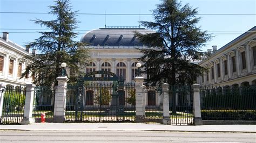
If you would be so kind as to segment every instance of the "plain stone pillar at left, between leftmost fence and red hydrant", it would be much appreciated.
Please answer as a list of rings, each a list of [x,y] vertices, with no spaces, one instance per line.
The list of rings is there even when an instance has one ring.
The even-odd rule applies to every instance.
[[[35,123],[35,119],[32,118],[35,87],[35,84],[26,84],[26,98],[22,125]]]

